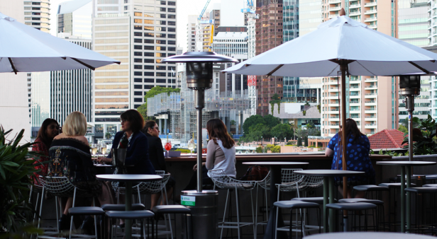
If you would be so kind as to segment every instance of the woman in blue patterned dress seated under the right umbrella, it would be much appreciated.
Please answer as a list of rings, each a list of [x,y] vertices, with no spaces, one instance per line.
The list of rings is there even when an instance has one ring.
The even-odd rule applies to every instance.
[[[346,147],[346,154],[348,156],[346,162],[346,169],[352,171],[365,172],[365,175],[348,177],[348,198],[353,186],[356,185],[375,185],[375,170],[369,158],[370,141],[365,134],[360,132],[357,123],[353,119],[346,119],[346,132],[348,132],[348,146]],[[339,144],[341,138],[338,133],[329,141],[326,148],[325,155],[333,156],[331,165],[332,170],[343,170],[343,152],[342,146]],[[340,157],[338,157],[340,156]],[[340,158],[340,160],[338,160]],[[336,177],[336,185],[343,196],[343,177]],[[344,196],[343,196],[344,197]],[[355,197],[364,197],[364,193],[358,192]]]

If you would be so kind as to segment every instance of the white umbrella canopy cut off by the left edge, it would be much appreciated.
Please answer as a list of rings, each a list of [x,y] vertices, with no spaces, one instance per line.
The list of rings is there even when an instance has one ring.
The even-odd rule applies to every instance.
[[[0,13],[0,72],[96,69],[120,62]]]

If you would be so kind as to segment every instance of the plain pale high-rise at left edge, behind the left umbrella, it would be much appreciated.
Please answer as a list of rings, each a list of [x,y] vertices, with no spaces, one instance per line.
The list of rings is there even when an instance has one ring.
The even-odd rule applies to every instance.
[[[0,12],[25,23],[23,1],[0,0]],[[30,112],[31,81],[26,73],[0,73],[0,122],[5,130],[13,129],[6,139],[12,139],[25,129],[21,143],[31,141]],[[26,87],[27,86],[27,87]]]

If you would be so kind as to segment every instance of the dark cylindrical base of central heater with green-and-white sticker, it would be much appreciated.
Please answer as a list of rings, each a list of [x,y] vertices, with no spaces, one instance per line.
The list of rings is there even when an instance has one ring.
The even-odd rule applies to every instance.
[[[187,239],[217,238],[219,192],[214,190],[182,191],[181,204],[191,209]]]

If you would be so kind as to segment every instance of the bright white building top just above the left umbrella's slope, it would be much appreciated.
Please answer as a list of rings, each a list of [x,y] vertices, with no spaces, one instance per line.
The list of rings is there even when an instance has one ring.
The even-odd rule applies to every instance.
[[[57,8],[57,33],[92,38],[92,0],[73,0]]]

